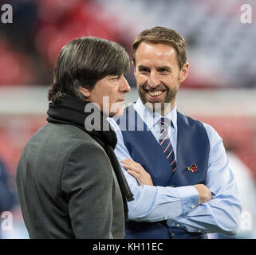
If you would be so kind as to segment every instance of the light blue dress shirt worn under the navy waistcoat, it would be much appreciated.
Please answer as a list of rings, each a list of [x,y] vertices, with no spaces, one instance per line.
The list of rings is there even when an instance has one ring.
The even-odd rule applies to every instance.
[[[156,123],[161,118],[160,114],[153,115],[140,98],[134,104],[134,108],[159,141],[160,127]],[[172,121],[172,125],[168,128],[168,135],[176,155],[178,129],[176,104],[165,117]],[[108,121],[116,131],[118,139],[115,149],[117,159],[132,159],[124,145],[124,139],[116,121],[112,118],[108,118]],[[208,124],[203,125],[210,141],[206,185],[211,190],[213,199],[198,205],[199,194],[194,186],[140,186],[136,179],[122,167],[135,198],[134,201],[128,202],[129,219],[137,222],[167,220],[168,226],[183,228],[188,232],[234,234],[238,231],[242,207],[234,174],[228,166],[223,140],[214,128]],[[122,166],[122,163],[120,164]]]

